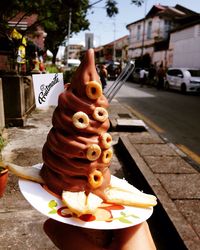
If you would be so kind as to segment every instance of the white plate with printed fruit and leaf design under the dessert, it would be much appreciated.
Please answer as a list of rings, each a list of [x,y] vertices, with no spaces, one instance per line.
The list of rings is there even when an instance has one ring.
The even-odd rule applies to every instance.
[[[114,178],[114,177],[113,177]],[[92,217],[86,215],[84,218],[77,218],[63,204],[62,200],[50,193],[42,185],[28,181],[19,180],[19,187],[26,200],[42,214],[70,225],[91,228],[91,229],[120,229],[137,225],[147,220],[153,213],[153,208],[137,208],[130,206],[118,206],[103,204],[98,215]],[[105,206],[105,207],[104,207]],[[99,215],[101,215],[99,217]],[[94,219],[88,221],[88,218]]]

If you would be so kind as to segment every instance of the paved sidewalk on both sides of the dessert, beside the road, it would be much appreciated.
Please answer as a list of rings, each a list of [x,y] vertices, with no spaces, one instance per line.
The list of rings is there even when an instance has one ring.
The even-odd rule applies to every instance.
[[[53,108],[36,110],[27,119],[25,127],[6,129],[8,144],[3,152],[6,161],[21,166],[42,162],[41,149],[52,126],[52,112]],[[114,155],[112,174],[123,177],[123,165],[128,165],[131,168],[129,172],[133,172],[131,178],[143,176],[144,185],[149,186],[159,200],[154,214],[160,211],[166,214],[174,231],[178,232],[179,240],[184,242],[186,248],[197,250],[200,246],[199,173],[183,159],[177,148],[163,141],[151,129],[118,126],[119,118],[137,120],[130,108],[113,100],[109,114],[111,133],[121,152],[120,159],[117,154]],[[131,131],[133,127],[138,132]],[[122,157],[122,152],[127,157]],[[155,218],[154,214],[152,218]],[[46,219],[23,198],[18,179],[10,174],[6,193],[0,199],[0,249],[56,249],[43,232],[42,225]],[[166,226],[162,217],[157,223],[163,228]],[[156,240],[166,238],[173,244],[169,235],[157,232],[156,237]],[[167,246],[158,249],[167,249]]]

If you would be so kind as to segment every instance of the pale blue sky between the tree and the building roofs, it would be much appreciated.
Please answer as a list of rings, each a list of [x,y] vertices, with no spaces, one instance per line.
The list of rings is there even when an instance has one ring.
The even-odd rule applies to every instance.
[[[98,47],[128,35],[129,32],[126,25],[143,18],[153,5],[159,3],[161,5],[168,6],[180,4],[188,9],[200,13],[200,0],[144,0],[145,3],[141,7],[131,4],[131,0],[116,1],[118,3],[119,13],[115,17],[107,17],[106,10],[104,8],[105,1],[96,4],[88,12],[90,30],[82,31],[77,35],[73,35],[70,38],[69,43],[84,45],[85,33],[93,33],[94,47]],[[96,0],[90,0],[90,3],[94,2],[96,2]],[[60,54],[62,54],[63,49],[60,49]]]

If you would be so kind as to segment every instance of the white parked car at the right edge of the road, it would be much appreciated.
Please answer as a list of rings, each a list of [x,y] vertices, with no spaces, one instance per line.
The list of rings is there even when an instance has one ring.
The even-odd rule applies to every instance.
[[[182,93],[200,92],[200,69],[169,68],[165,88],[177,89]]]

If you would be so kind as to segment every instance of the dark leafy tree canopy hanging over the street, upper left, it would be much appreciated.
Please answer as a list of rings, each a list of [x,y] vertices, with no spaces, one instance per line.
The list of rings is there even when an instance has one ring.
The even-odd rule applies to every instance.
[[[53,53],[53,62],[58,52],[59,46],[68,35],[69,13],[72,14],[71,34],[86,30],[89,27],[87,12],[94,5],[104,2],[107,15],[112,17],[118,13],[117,1],[97,0],[92,3],[89,0],[1,0],[0,8],[0,36],[10,39],[10,28],[8,22],[19,13],[23,13],[21,20],[25,16],[37,14],[38,19],[21,31],[23,36],[33,32],[37,26],[43,26],[47,32],[45,39],[46,49]],[[144,0],[131,0],[131,3],[140,6]],[[19,20],[20,21],[20,20]]]

